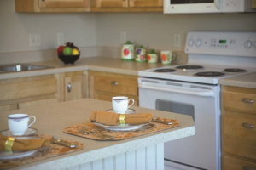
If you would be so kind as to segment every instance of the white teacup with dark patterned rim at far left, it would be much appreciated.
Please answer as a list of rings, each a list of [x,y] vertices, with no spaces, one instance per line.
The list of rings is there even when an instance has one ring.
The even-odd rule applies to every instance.
[[[28,125],[30,118],[33,117],[34,121]],[[8,116],[8,126],[9,130],[13,133],[13,135],[23,135],[26,132],[28,127],[31,127],[32,124],[36,122],[35,116],[28,116],[23,113],[13,114]]]

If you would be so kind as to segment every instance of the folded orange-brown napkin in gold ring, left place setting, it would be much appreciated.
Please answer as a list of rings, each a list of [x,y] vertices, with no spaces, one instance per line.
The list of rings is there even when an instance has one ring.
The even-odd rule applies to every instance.
[[[7,136],[0,134],[0,151],[5,150],[5,142],[8,139]],[[28,150],[38,150],[50,143],[49,139],[15,139],[13,144],[13,151],[28,151]]]

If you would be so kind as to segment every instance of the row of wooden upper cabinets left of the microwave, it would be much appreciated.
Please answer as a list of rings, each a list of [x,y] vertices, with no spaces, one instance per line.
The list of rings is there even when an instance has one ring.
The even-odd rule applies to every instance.
[[[163,0],[15,0],[16,12],[157,12]]]

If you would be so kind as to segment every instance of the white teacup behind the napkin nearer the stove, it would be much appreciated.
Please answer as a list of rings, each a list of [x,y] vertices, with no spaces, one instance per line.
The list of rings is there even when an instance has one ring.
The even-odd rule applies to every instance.
[[[116,113],[125,114],[125,111],[127,111],[127,109],[131,107],[131,105],[129,105],[130,100],[132,101],[131,105],[133,105],[134,99],[128,99],[128,97],[125,97],[125,96],[113,97],[112,98],[113,111]]]

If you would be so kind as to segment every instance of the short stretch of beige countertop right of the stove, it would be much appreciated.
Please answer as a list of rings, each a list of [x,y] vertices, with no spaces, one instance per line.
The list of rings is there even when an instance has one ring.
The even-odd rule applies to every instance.
[[[220,79],[219,84],[241,88],[256,88],[256,73]]]

